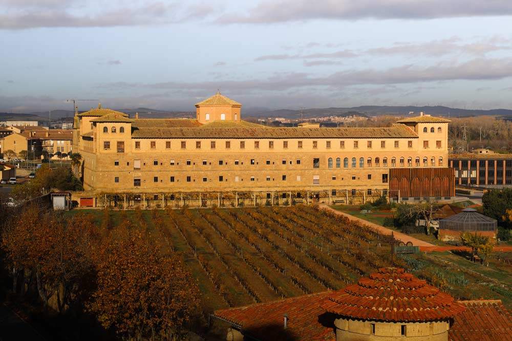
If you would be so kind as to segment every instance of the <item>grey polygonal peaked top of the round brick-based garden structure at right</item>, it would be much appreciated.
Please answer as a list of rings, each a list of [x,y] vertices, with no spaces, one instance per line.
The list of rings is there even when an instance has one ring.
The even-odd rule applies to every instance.
[[[439,221],[440,230],[460,232],[496,231],[498,222],[472,208],[462,210],[461,213]]]

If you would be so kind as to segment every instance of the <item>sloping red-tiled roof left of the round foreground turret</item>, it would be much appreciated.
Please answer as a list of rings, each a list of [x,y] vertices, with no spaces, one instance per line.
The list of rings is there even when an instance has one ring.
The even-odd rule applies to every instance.
[[[334,316],[318,305],[331,291],[284,300],[217,310],[214,315],[242,327],[244,335],[261,340],[335,340]],[[284,315],[288,328],[284,329]]]

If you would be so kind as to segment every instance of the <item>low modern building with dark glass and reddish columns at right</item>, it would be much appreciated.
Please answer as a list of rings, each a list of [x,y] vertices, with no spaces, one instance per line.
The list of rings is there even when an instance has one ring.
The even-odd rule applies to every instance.
[[[467,153],[449,156],[457,186],[512,186],[512,154]]]

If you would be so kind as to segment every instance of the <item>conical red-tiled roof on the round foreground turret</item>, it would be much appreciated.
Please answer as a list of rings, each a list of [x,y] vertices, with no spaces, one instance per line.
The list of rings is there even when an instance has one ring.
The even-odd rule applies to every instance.
[[[322,307],[352,319],[386,322],[445,320],[465,309],[451,295],[394,267],[334,291]]]

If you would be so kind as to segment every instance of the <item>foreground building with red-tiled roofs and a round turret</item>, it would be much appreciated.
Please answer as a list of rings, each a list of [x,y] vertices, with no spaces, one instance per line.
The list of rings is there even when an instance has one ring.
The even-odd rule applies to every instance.
[[[455,301],[401,268],[380,268],[358,283],[215,311],[227,338],[324,341],[508,340],[510,312],[498,300]]]

